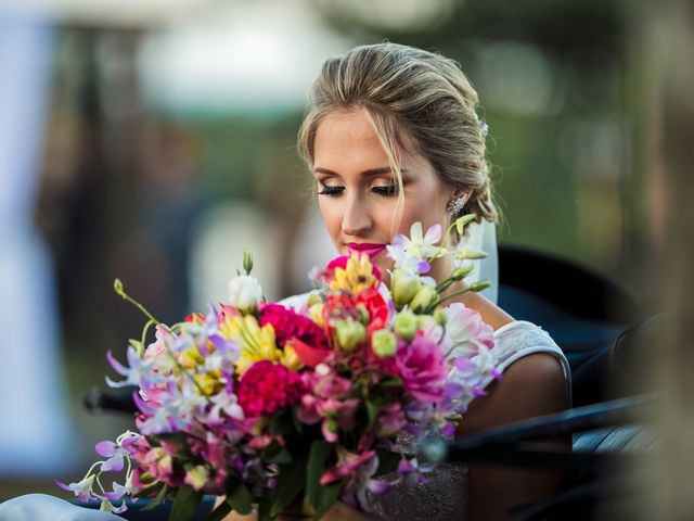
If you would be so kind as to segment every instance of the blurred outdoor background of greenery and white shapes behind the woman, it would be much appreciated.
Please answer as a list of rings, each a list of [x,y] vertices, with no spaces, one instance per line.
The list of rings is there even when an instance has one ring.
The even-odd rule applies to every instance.
[[[129,425],[82,399],[143,317],[266,296],[332,254],[295,138],[329,55],[459,61],[490,127],[500,240],[644,283],[658,227],[651,18],[617,0],[0,0],[0,497],[55,494]],[[644,28],[645,27],[645,28]],[[663,30],[667,31],[667,27]]]

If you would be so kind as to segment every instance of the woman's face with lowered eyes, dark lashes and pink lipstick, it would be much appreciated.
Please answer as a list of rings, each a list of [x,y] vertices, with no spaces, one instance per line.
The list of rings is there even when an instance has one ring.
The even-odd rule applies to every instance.
[[[368,253],[384,272],[393,267],[385,246],[394,231],[409,234],[415,221],[424,230],[437,223],[446,226],[446,205],[455,194],[439,180],[428,160],[402,152],[404,206],[393,230],[398,185],[364,113],[330,113],[318,126],[313,143],[319,207],[335,247],[342,255]]]

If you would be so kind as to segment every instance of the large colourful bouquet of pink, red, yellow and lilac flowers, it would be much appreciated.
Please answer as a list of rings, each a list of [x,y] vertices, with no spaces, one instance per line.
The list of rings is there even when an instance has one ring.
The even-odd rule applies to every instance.
[[[149,318],[141,339],[130,341],[127,365],[107,354],[123,377],[108,385],[138,389],[137,431],[97,444],[103,459],[81,481],[59,486],[116,513],[127,496],[154,498],[150,507],[174,498],[172,519],[188,519],[213,494],[226,499],[209,519],[255,505],[262,520],[293,505],[319,519],[337,499],[365,508],[368,491],[386,494],[393,485],[377,478],[387,465],[398,479],[426,480],[430,466],[398,454],[397,434],[452,437],[497,376],[491,328],[460,303],[445,305],[486,284],[453,293],[465,266],[438,284],[426,276],[442,255],[483,255],[446,245],[452,228],[462,233],[473,218],[445,234],[415,224],[410,238],[396,237],[387,246],[389,288],[368,255],[337,257],[294,307],[264,301],[249,254],[229,302],[174,326],[116,280],[116,292]],[[111,490],[108,472],[123,479]]]

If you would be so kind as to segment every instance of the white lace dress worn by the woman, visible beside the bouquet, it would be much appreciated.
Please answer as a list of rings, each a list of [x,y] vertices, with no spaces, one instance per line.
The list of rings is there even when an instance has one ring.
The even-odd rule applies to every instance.
[[[551,353],[557,357],[570,396],[570,371],[562,350],[550,335],[538,326],[526,322],[510,322],[494,331],[494,367],[502,373],[514,361],[532,353]],[[491,378],[485,383],[488,385]],[[411,447],[413,440],[399,437],[401,446]],[[382,476],[395,479],[397,474]],[[424,519],[448,521],[467,519],[467,468],[441,463],[427,474],[424,484],[401,481],[384,496],[368,494],[371,509],[388,520]]]

